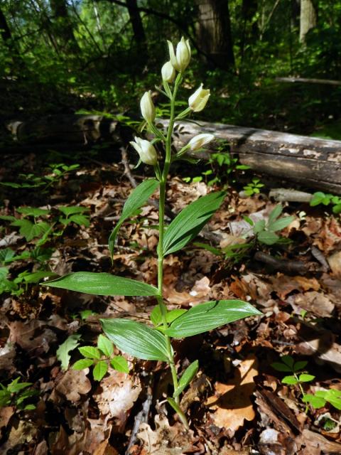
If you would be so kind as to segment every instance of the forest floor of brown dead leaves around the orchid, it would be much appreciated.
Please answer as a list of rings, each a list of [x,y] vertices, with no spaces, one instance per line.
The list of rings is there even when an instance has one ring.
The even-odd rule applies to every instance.
[[[186,432],[165,402],[171,390],[165,364],[127,357],[129,375],[109,369],[101,382],[89,369],[72,369],[80,358],[77,344],[95,345],[100,318],[148,321],[153,298],[49,289],[37,283],[42,275],[34,275],[42,270],[46,275],[111,272],[156,284],[157,209],[146,205],[124,224],[112,266],[108,237],[131,192],[122,164],[90,156],[65,174],[57,168],[62,175],[57,172],[54,180],[42,183],[39,163],[34,154],[7,157],[0,168],[1,181],[16,176],[15,181],[28,182],[1,189],[0,381],[10,392],[0,394],[1,454],[341,453],[341,259],[335,255],[341,249],[340,215],[321,205],[284,203],[284,213],[293,220],[281,236],[290,242],[253,242],[244,256],[237,250],[226,257],[218,253],[245,242],[241,237],[250,226],[243,217],[267,220],[276,206],[266,190],[240,198],[230,186],[197,240],[213,249],[192,243],[166,258],[169,308],[242,299],[263,313],[176,341],[179,373],[195,359],[200,365],[181,400],[190,421]],[[185,183],[171,176],[169,208],[176,214],[214,189],[203,181]],[[87,210],[75,213],[65,207]],[[269,256],[267,263],[256,260],[257,252],[271,256],[270,261]],[[71,338],[67,353],[57,353],[75,335],[80,337]],[[285,365],[283,355],[290,356],[283,358]],[[282,382],[301,374],[300,384]],[[16,378],[20,381],[9,386]],[[20,390],[21,382],[31,385]],[[303,394],[321,390],[336,392],[316,407],[303,402]]]

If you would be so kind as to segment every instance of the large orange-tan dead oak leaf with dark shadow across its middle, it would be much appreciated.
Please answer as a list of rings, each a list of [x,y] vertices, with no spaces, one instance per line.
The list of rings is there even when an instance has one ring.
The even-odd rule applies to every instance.
[[[206,405],[213,410],[212,420],[217,427],[231,430],[233,433],[255,417],[251,395],[256,387],[254,376],[258,375],[258,360],[249,355],[239,363],[234,378],[226,384],[217,382],[215,395],[207,398]]]

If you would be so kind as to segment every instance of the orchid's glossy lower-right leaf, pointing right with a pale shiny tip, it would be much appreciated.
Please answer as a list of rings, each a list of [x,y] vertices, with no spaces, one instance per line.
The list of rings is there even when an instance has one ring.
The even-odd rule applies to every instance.
[[[260,314],[262,313],[254,306],[242,300],[207,301],[205,304],[193,306],[185,314],[175,319],[165,333],[175,338],[185,338],[247,316],[259,316]]]

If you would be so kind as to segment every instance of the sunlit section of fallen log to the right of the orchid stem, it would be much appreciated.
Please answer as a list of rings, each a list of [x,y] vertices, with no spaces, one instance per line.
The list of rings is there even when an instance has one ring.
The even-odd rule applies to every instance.
[[[202,132],[228,141],[231,152],[254,171],[341,194],[341,141],[218,123],[200,122],[198,126],[177,122],[175,145],[183,145]],[[215,151],[214,146],[210,151]],[[201,157],[205,159],[205,154]]]

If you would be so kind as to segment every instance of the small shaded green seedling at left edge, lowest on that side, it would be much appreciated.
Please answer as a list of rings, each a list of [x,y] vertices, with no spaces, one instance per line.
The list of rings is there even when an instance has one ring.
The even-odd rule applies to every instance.
[[[31,388],[32,382],[20,382],[16,378],[9,385],[0,384],[0,407],[15,406],[19,411],[35,410],[33,404],[26,404],[26,401],[39,395],[38,390]]]

